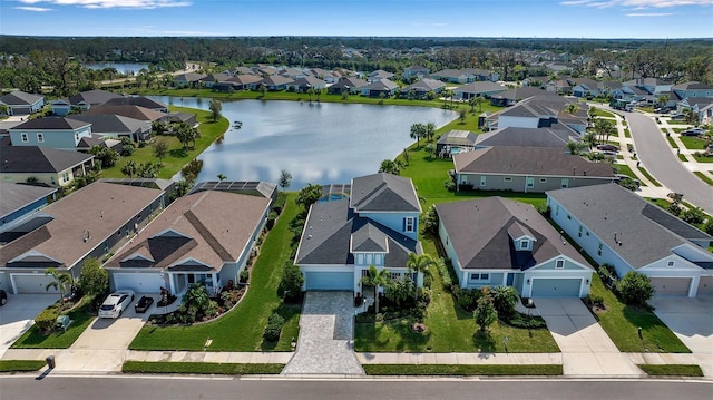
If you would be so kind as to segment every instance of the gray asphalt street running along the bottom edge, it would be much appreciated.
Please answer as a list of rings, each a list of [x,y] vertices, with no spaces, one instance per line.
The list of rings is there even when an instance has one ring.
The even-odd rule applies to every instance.
[[[574,380],[240,380],[232,378],[0,378],[4,399],[686,399],[711,400],[712,382]]]

